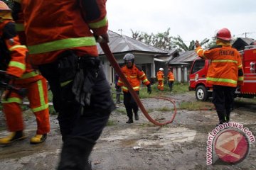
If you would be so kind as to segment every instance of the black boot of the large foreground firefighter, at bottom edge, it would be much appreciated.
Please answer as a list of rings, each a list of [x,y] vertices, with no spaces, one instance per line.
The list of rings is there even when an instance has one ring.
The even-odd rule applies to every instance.
[[[58,170],[91,170],[89,157],[94,145],[85,137],[68,137],[63,143]]]

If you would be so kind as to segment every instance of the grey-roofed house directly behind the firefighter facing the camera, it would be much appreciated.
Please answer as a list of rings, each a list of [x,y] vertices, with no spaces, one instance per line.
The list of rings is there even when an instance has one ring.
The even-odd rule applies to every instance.
[[[110,46],[110,50],[117,60],[117,63],[122,65],[124,63],[124,55],[132,53],[135,56],[135,64],[142,68],[149,81],[154,82],[156,77],[156,64],[154,58],[159,55],[168,56],[168,52],[151,45],[147,45],[139,40],[129,38],[126,35],[114,33],[111,30],[108,30],[108,35],[110,37],[108,45]],[[102,61],[104,72],[107,76],[107,80],[112,84],[114,82],[115,71],[107,60],[107,57],[102,51],[100,45],[97,45],[97,50],[100,55],[100,60]]]

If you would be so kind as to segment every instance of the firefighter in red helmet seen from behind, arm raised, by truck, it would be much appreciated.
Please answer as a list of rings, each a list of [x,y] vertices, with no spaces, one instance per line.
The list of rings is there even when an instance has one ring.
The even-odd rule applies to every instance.
[[[196,41],[196,52],[199,57],[211,60],[206,82],[213,84],[213,104],[220,125],[230,120],[235,89],[243,84],[243,71],[240,53],[230,44],[230,30],[218,30],[215,38],[216,45],[209,50],[203,50]]]

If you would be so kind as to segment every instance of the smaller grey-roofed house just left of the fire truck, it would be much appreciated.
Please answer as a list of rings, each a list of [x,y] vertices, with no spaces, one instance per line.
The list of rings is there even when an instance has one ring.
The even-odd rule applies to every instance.
[[[191,69],[191,65],[194,60],[198,57],[196,52],[180,52],[179,55],[175,55],[169,63],[168,66],[173,70],[175,80],[178,82],[188,82],[188,76]]]

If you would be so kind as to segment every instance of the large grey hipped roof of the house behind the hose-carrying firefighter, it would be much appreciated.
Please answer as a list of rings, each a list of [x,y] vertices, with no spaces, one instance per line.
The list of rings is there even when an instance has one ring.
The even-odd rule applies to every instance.
[[[110,50],[113,54],[127,52],[145,52],[153,53],[156,55],[168,54],[168,52],[164,50],[158,49],[151,45],[147,45],[146,43],[140,42],[139,40],[129,38],[126,35],[119,35],[118,33],[114,33],[112,30],[108,30],[108,35],[110,38],[108,45],[110,46]],[[97,44],[97,49],[100,55],[104,54],[99,44]]]

